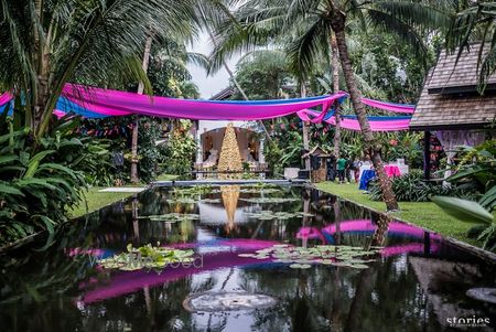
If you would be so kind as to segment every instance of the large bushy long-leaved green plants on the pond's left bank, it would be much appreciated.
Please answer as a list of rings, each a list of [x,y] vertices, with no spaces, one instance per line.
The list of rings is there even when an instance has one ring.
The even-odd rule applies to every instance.
[[[30,137],[29,128],[0,137],[1,244],[42,229],[53,233],[67,221],[67,208],[79,202],[85,188],[84,173],[76,169],[91,163],[80,153],[84,143],[63,138],[62,131],[42,139],[41,147],[33,147]]]

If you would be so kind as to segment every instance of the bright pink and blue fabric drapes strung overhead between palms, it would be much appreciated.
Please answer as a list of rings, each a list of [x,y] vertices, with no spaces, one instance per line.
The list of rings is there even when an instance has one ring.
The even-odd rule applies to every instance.
[[[74,113],[87,118],[109,116],[143,115],[166,118],[185,118],[193,120],[262,120],[298,114],[304,120],[313,124],[325,121],[335,125],[333,105],[342,103],[347,94],[339,92],[309,98],[274,99],[274,100],[191,100],[168,97],[150,97],[134,93],[86,87],[66,84],[56,104],[55,114],[63,116]],[[0,96],[3,108],[12,100],[12,95]],[[401,105],[363,98],[370,107],[392,113],[412,114],[413,105]],[[313,110],[311,108],[317,108]],[[359,130],[354,116],[342,116],[342,127]],[[375,131],[391,131],[408,129],[411,116],[368,117]]]

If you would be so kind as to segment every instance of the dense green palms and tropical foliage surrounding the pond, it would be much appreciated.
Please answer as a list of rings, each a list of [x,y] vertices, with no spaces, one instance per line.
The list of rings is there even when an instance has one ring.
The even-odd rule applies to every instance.
[[[459,171],[472,172],[459,172],[450,188],[429,186],[418,172],[390,183],[380,163],[401,157],[420,169],[421,136],[373,135],[365,114],[374,110],[359,100],[367,96],[414,104],[441,49],[454,52],[473,40],[494,41],[492,3],[309,0],[288,8],[285,1],[194,2],[2,3],[1,86],[14,96],[0,121],[2,243],[64,223],[88,185],[149,183],[161,173],[186,174],[195,153],[188,121],[52,116],[66,83],[197,98],[186,63],[209,73],[228,69],[233,99],[349,92],[349,101],[337,111],[356,114],[360,132],[343,130],[338,122],[310,127],[295,117],[259,124],[265,129],[260,135],[268,136],[267,160],[276,176],[284,167],[303,165],[302,147],[319,144],[335,154],[370,156],[378,171],[371,199],[384,200],[388,210],[398,210],[397,200],[427,201],[431,193],[477,200],[487,192],[482,203],[492,211],[494,174],[484,167],[494,161],[488,157],[492,142],[464,152],[481,156],[471,162],[464,158]],[[186,51],[201,31],[211,38],[212,54]],[[237,52],[245,55],[229,68],[226,58]],[[493,53],[479,62],[483,90],[495,68]],[[155,144],[164,137],[169,143]],[[112,163],[117,152],[123,157],[119,169]],[[485,185],[470,181],[470,190],[461,188],[465,184],[457,182],[481,176],[474,168],[483,169],[478,183]]]

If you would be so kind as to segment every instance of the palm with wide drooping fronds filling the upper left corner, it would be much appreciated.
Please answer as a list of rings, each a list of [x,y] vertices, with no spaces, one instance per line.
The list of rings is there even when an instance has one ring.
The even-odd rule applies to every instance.
[[[141,52],[157,35],[192,32],[193,0],[6,0],[0,3],[1,88],[25,96],[36,139],[47,130],[67,82],[142,82]],[[110,71],[118,65],[119,71]],[[76,77],[75,75],[79,75]]]

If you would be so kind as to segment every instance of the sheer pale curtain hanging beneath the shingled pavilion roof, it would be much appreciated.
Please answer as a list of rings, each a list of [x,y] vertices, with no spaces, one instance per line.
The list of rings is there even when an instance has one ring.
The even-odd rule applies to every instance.
[[[440,130],[435,132],[435,137],[443,146],[444,153],[446,153],[448,165],[444,172],[444,179],[446,179],[452,173],[451,167],[453,164],[453,158],[456,156],[456,147],[478,146],[484,142],[485,132],[474,130]]]

